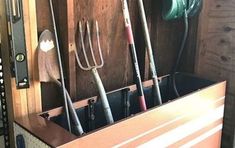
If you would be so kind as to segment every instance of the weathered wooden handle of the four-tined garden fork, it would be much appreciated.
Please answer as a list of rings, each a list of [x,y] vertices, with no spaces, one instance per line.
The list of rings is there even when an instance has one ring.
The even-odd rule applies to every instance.
[[[95,78],[95,82],[97,84],[99,94],[100,94],[100,99],[103,105],[104,113],[105,113],[105,118],[109,124],[113,123],[113,115],[109,106],[108,98],[106,96],[106,92],[103,86],[103,83],[100,79],[99,73],[96,68],[92,69],[92,74]]]

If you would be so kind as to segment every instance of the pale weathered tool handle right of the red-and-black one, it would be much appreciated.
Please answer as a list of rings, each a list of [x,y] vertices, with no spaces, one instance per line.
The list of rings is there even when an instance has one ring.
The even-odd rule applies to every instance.
[[[146,15],[145,15],[145,11],[144,11],[143,0],[138,0],[138,6],[139,6],[140,17],[141,17],[142,28],[144,31],[145,44],[147,46],[147,51],[148,51],[150,71],[151,71],[153,84],[154,84],[153,85],[154,104],[161,105],[162,104],[162,97],[161,97],[161,92],[160,92],[158,77],[157,77],[157,71],[156,71],[154,58],[153,58],[153,50],[152,50],[152,45],[151,45],[151,41],[150,41],[148,25],[147,25],[147,21],[146,21]]]

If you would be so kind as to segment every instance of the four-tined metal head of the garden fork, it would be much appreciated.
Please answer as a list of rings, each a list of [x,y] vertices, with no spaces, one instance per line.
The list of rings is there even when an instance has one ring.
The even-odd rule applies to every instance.
[[[91,57],[92,57],[91,59],[92,59],[94,64],[91,64],[89,62],[88,55],[87,55],[87,52],[85,50],[85,45],[84,45],[82,22],[79,21],[80,42],[81,42],[82,53],[84,55],[86,65],[85,66],[82,65],[81,60],[79,59],[79,56],[78,56],[78,53],[77,53],[76,50],[75,50],[75,56],[76,56],[77,63],[79,65],[79,67],[83,70],[91,70],[93,68],[101,68],[104,65],[104,60],[103,60],[101,47],[100,47],[99,26],[98,26],[97,21],[95,21],[95,25],[96,25],[96,38],[97,38],[98,51],[99,51],[99,57],[100,57],[100,61],[101,61],[100,64],[97,64],[97,61],[96,61],[96,58],[95,58],[95,55],[94,55],[94,50],[93,50],[92,41],[91,41],[90,26],[89,26],[89,22],[87,21],[86,22],[86,29],[87,29],[87,36],[88,36],[88,42],[89,42],[89,49],[90,49],[90,53],[91,53]]]

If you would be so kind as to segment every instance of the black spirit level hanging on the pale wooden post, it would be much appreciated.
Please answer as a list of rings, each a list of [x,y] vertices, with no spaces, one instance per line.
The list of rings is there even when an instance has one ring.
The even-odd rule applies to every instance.
[[[24,33],[22,0],[6,0],[9,21],[11,62],[18,89],[29,88],[27,50]]]

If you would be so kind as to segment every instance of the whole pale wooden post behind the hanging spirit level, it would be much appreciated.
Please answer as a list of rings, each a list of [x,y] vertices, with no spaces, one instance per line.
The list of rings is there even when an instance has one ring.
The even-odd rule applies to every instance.
[[[5,2],[3,2],[5,4]],[[3,6],[3,5],[2,5]],[[6,84],[8,88],[11,87],[8,92],[7,99],[12,101],[11,108],[13,108],[13,116],[20,117],[26,116],[30,113],[41,112],[41,91],[40,83],[38,81],[38,70],[36,65],[36,48],[37,48],[37,22],[36,22],[36,9],[35,0],[24,0],[23,1],[23,12],[24,12],[24,25],[25,25],[25,39],[27,47],[28,57],[28,68],[30,77],[30,88],[29,89],[16,89],[15,79],[11,78],[10,64],[9,64],[9,46],[7,38],[7,29],[4,35],[4,50],[3,64],[7,69],[5,70],[8,77],[6,78]],[[4,9],[5,10],[5,9]],[[3,13],[6,15],[5,13]],[[6,21],[6,20],[5,20]],[[6,23],[7,24],[7,23]],[[4,24],[5,28],[7,27]]]

